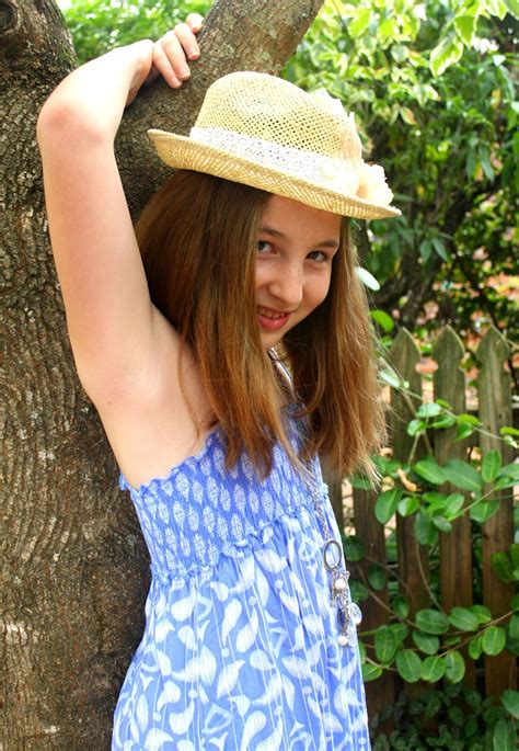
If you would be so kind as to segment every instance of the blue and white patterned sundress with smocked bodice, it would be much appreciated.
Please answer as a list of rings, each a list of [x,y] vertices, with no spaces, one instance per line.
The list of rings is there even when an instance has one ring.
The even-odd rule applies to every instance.
[[[356,638],[337,644],[323,533],[285,451],[262,480],[226,440],[130,491],[150,556],[146,629],[113,751],[367,751]],[[338,531],[322,482],[332,534]]]

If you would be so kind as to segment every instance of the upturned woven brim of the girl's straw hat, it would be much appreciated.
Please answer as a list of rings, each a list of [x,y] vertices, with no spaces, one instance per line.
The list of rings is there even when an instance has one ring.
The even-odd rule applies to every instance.
[[[162,161],[175,169],[206,172],[355,219],[382,219],[401,215],[401,212],[392,206],[373,204],[338,193],[208,146],[195,138],[155,129],[148,130],[148,136]]]

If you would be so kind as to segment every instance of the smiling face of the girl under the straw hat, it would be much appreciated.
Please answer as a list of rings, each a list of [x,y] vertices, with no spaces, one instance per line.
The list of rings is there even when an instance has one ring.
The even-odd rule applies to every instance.
[[[324,300],[341,217],[274,195],[260,224],[256,312],[265,349],[277,344]]]

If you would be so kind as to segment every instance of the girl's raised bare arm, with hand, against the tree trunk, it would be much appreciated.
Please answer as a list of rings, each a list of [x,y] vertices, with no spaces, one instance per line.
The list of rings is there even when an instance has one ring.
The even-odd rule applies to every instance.
[[[50,240],[79,376],[102,406],[138,387],[160,355],[152,306],[114,157],[114,138],[140,86],[162,73],[173,88],[198,56],[192,15],[159,43],[114,49],[68,76],[42,109]]]

